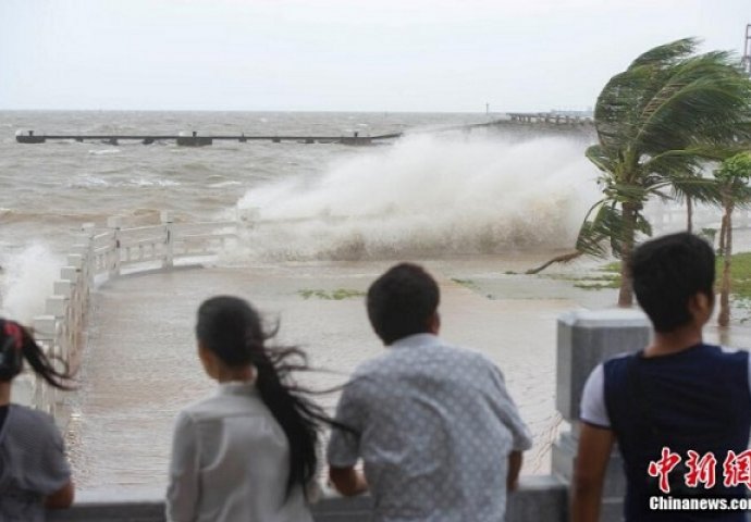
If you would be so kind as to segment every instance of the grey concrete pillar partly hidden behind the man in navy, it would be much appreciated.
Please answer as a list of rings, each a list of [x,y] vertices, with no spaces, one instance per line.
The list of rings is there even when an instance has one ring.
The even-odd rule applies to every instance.
[[[600,362],[644,348],[650,335],[647,318],[637,310],[579,311],[558,319],[556,408],[571,430],[562,433],[553,444],[552,468],[569,484],[579,443],[579,403],[587,377]],[[615,449],[605,476],[601,521],[623,519],[625,493],[626,477]]]

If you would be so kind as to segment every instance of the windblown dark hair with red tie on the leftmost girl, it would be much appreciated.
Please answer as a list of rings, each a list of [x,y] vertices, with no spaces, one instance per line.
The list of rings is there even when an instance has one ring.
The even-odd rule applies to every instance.
[[[47,357],[28,330],[15,321],[0,318],[0,382],[13,381],[23,371],[24,359],[32,370],[50,386],[58,389],[73,389],[66,384],[72,377],[67,372],[65,361],[57,357]],[[63,370],[56,369],[53,361],[58,361]]]

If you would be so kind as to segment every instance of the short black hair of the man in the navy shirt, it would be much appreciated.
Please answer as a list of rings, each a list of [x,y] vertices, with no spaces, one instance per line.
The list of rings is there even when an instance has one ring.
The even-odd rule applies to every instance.
[[[629,269],[637,301],[656,332],[688,324],[692,296],[704,294],[714,302],[714,252],[692,234],[670,234],[642,244],[633,251]]]

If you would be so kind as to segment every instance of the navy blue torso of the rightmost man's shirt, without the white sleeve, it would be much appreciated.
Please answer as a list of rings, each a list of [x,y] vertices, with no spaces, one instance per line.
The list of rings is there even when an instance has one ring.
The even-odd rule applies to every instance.
[[[723,485],[723,463],[728,450],[740,453],[749,446],[749,353],[702,344],[668,356],[612,359],[603,371],[605,407],[628,478],[626,520],[746,521],[743,512],[650,510],[650,497],[665,494],[648,469],[668,448],[681,458],[668,474],[670,497],[746,497],[744,484]],[[689,450],[716,458],[713,488],[687,486]]]

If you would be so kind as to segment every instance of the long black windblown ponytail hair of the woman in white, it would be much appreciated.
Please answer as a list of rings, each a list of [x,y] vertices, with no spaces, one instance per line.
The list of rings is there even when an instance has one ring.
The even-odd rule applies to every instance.
[[[291,374],[309,370],[307,357],[299,348],[268,347],[266,340],[279,328],[267,333],[256,310],[238,297],[217,296],[198,308],[196,336],[225,364],[253,364],[258,374],[256,387],[261,400],[284,430],[290,443],[287,495],[293,486],[305,485],[316,475],[321,423],[352,431],[331,420],[291,381]],[[306,493],[307,494],[307,493]]]

